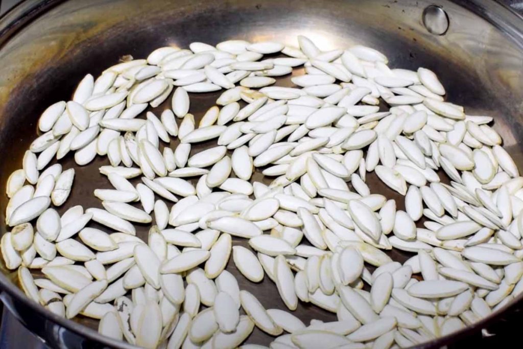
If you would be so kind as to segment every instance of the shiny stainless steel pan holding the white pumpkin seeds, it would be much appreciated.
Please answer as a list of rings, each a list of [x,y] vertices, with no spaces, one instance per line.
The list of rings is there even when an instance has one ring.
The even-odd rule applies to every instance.
[[[434,18],[429,12],[424,17],[429,5],[440,6],[446,15],[440,12],[444,17]],[[444,24],[448,21],[448,28],[436,25],[441,20]],[[435,35],[427,28],[445,33]],[[58,100],[70,98],[85,74],[97,76],[123,55],[145,58],[153,49],[166,45],[187,47],[193,41],[216,44],[227,39],[278,40],[296,45],[300,34],[324,50],[362,43],[384,52],[391,67],[416,70],[424,66],[437,72],[448,100],[463,105],[467,114],[495,118],[494,129],[503,137],[505,149],[519,166],[523,165],[523,19],[496,2],[43,0],[22,2],[0,19],[0,187],[5,188],[9,174],[21,167],[24,151],[36,137],[41,112]],[[288,77],[278,84],[291,85]],[[191,96],[191,112],[197,122],[218,95]],[[162,105],[156,111],[166,107]],[[176,142],[169,145],[174,148]],[[196,147],[194,152],[208,145]],[[64,168],[76,168],[67,206],[100,207],[92,192],[109,187],[98,173],[107,159],[97,157],[91,164],[78,167],[70,155],[61,163]],[[267,182],[260,173],[254,179]],[[399,209],[403,208],[403,199],[372,174],[369,181],[374,193],[396,199]],[[4,194],[0,196],[0,221],[5,219],[6,205]],[[138,235],[145,237],[147,229],[139,227]],[[2,225],[0,234],[5,232]],[[241,239],[234,243],[245,244]],[[390,254],[398,261],[410,256],[398,251]],[[16,273],[8,271],[3,261],[0,264],[0,298],[50,347],[133,347],[100,336],[93,320],[65,320],[31,302],[18,288]],[[241,288],[253,292],[266,308],[283,309],[274,284],[268,280],[252,284],[231,264],[228,269],[237,275]],[[510,321],[521,308],[522,299],[523,295],[492,316],[422,347],[465,345],[471,334],[494,322]],[[334,314],[315,306],[300,304],[295,313],[306,323],[311,319],[335,320]],[[256,329],[248,339],[265,345],[270,341]]]

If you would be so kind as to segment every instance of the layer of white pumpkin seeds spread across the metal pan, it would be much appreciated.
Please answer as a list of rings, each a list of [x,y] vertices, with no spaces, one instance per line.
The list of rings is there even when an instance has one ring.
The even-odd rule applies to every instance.
[[[2,255],[27,296],[147,348],[235,348],[256,326],[276,349],[408,347],[520,294],[523,177],[492,118],[444,102],[430,70],[391,70],[368,47],[298,42],[163,47],[87,75],[72,100],[47,108],[6,189]],[[269,86],[295,66],[305,70],[297,87]],[[222,88],[195,125],[188,93]],[[172,110],[139,117],[173,89]],[[191,155],[209,140],[218,144]],[[114,189],[94,192],[104,209],[55,210],[75,172],[48,164],[71,151],[78,165],[107,155],[99,170]],[[274,181],[251,183],[254,167]],[[372,171],[405,196],[405,211],[371,194]],[[153,211],[144,242],[133,223],[152,223]],[[393,248],[412,257],[392,261],[382,250]],[[270,278],[290,311],[240,290],[224,270],[231,252],[238,277]],[[338,321],[304,324],[292,314],[300,301]]]

